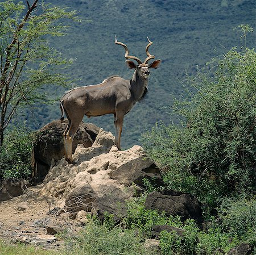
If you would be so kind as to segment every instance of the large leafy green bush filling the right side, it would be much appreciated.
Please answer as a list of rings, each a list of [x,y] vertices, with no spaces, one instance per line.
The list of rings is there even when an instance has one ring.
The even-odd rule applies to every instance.
[[[157,123],[144,133],[148,155],[166,169],[170,189],[197,195],[212,208],[226,195],[255,193],[256,53],[232,48],[186,80],[172,114],[181,124]]]

